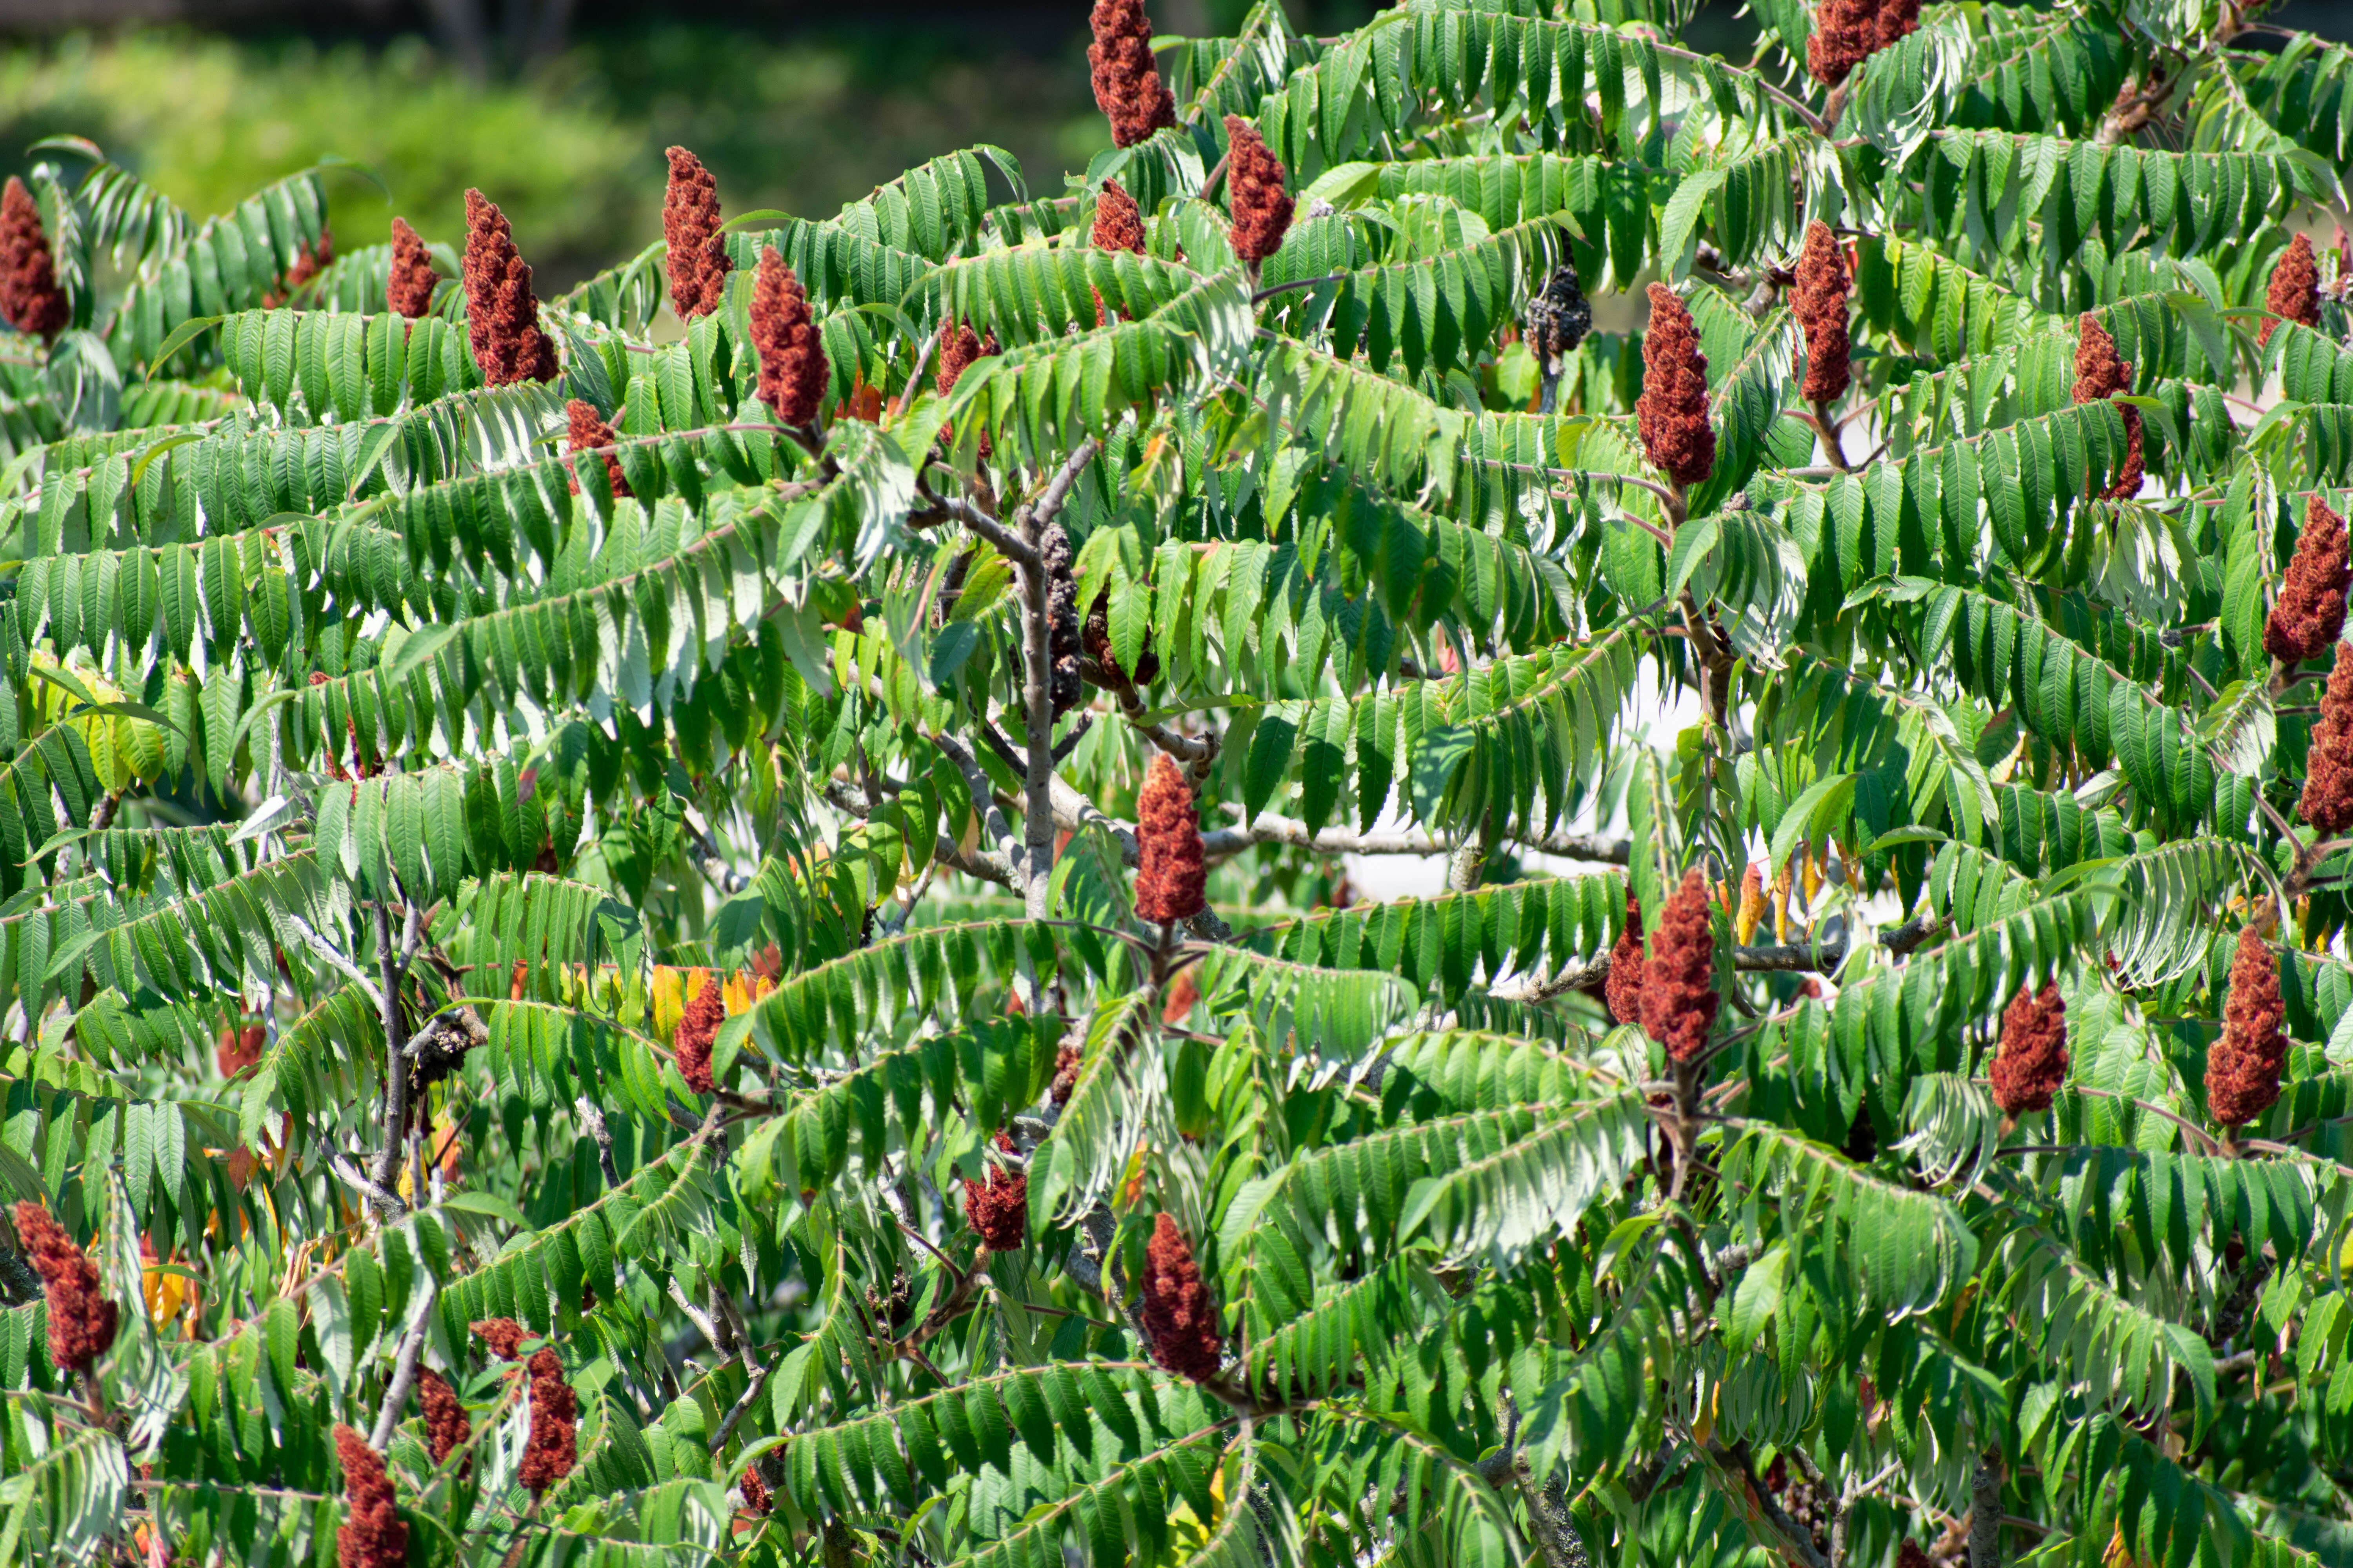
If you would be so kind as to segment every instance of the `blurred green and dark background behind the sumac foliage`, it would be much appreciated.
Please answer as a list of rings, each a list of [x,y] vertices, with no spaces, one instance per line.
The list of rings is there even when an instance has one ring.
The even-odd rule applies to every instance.
[[[1089,0],[0,0],[0,174],[78,134],[198,216],[322,155],[336,237],[393,212],[459,240],[466,186],[544,287],[659,235],[661,148],[694,148],[725,212],[826,216],[951,148],[1009,148],[1059,190],[1108,146],[1087,87]],[[1247,0],[1148,0],[1155,28],[1228,31]],[[1287,0],[1339,31],[1379,0]],[[2282,21],[2344,35],[2353,5]],[[1739,52],[1718,2],[1687,38]],[[78,172],[78,165],[71,165]]]

